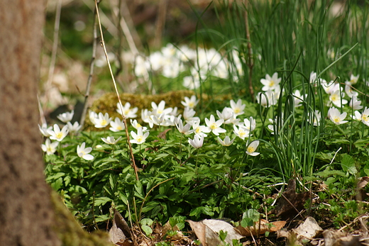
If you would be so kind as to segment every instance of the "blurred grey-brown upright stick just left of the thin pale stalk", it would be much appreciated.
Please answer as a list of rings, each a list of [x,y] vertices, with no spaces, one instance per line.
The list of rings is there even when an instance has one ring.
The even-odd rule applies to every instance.
[[[97,22],[96,22],[96,16],[97,11],[94,9],[94,42],[92,43],[92,57],[91,62],[89,63],[89,79],[87,79],[87,87],[86,87],[86,93],[84,94],[84,105],[83,105],[83,111],[81,115],[81,119],[79,121],[79,125],[84,125],[84,121],[86,120],[87,115],[87,108],[88,108],[88,99],[89,99],[89,88],[92,84],[92,76],[94,74],[94,64],[96,59],[96,50],[97,50]]]

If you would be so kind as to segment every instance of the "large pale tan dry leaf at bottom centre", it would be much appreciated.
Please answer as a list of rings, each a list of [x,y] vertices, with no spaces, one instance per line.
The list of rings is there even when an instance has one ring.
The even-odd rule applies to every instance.
[[[232,245],[232,240],[240,240],[243,236],[235,228],[223,220],[202,220],[199,222],[186,220],[191,225],[192,230],[204,246],[221,245],[219,232],[223,230],[227,233],[225,241]]]

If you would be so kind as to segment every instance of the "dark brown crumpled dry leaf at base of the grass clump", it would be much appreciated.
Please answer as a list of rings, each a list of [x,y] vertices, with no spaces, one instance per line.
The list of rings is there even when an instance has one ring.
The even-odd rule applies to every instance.
[[[296,181],[290,179],[287,189],[282,193],[278,200],[277,206],[272,210],[276,216],[280,216],[284,220],[288,220],[297,215],[304,209],[304,203],[310,198],[309,191],[296,193]]]

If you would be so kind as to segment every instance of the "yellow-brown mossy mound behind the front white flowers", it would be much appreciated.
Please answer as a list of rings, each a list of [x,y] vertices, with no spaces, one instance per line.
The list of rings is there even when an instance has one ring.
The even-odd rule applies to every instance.
[[[169,107],[177,107],[178,111],[182,113],[184,110],[184,106],[182,106],[181,101],[184,101],[184,96],[191,97],[194,95],[194,91],[181,90],[181,91],[170,91],[165,94],[157,94],[157,95],[144,95],[144,94],[128,94],[123,93],[119,96],[121,97],[122,104],[126,104],[129,102],[131,107],[138,108],[138,121],[141,121],[141,110],[148,108],[150,110],[151,102],[155,102],[155,104],[159,104],[160,101],[165,101],[165,108]],[[199,96],[197,95],[199,98]],[[225,100],[230,100],[231,95],[222,95],[216,96],[215,98],[208,96],[206,94],[202,94],[202,103],[204,105],[209,105],[211,103],[214,104],[224,104]],[[96,113],[109,113],[109,117],[121,118],[121,115],[116,112],[116,104],[118,103],[118,96],[115,93],[107,93],[101,96],[99,99],[94,101],[90,110]],[[109,128],[108,126],[106,128]],[[86,117],[86,123],[84,124],[84,130],[104,130],[104,128],[94,128],[91,121],[89,121],[89,117]]]

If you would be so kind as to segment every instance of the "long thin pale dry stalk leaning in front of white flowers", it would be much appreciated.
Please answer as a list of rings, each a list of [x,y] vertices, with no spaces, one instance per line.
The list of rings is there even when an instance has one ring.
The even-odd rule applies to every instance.
[[[126,116],[124,115],[124,112],[123,112],[123,105],[122,105],[121,97],[119,96],[118,88],[116,87],[116,81],[114,79],[114,74],[113,74],[113,71],[111,70],[109,57],[108,57],[108,52],[106,52],[106,46],[105,46],[105,41],[104,41],[104,33],[102,32],[102,28],[101,28],[101,22],[100,22],[99,8],[97,6],[97,0],[95,0],[95,8],[96,8],[96,13],[97,13],[97,21],[99,21],[99,29],[100,29],[100,35],[101,35],[101,46],[104,49],[104,54],[105,54],[105,57],[106,57],[106,62],[108,63],[109,72],[111,74],[111,79],[113,79],[113,84],[114,84],[114,89],[116,91],[116,96],[118,96],[119,107],[121,109],[121,116],[123,117],[123,123],[124,123],[124,126],[126,128],[126,136],[127,136],[129,151],[131,153],[132,165],[133,165],[133,169],[135,170],[136,180],[138,181],[139,179],[138,179],[137,167],[136,167],[136,163],[135,163],[135,157],[133,155],[131,142],[129,140]]]

